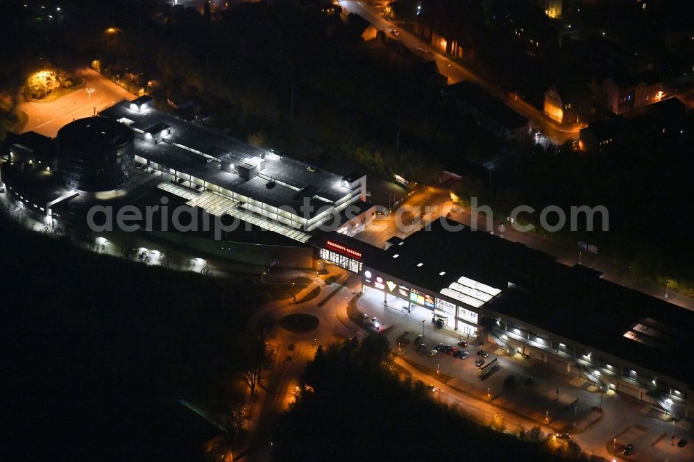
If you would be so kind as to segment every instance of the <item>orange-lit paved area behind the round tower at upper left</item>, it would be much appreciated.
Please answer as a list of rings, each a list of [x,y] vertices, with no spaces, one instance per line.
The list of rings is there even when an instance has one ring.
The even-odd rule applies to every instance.
[[[48,103],[32,101],[19,105],[19,110],[26,112],[28,116],[23,132],[35,131],[47,137],[55,137],[66,123],[90,117],[94,108],[98,112],[122,99],[135,99],[135,95],[93,69],[81,69],[77,75],[83,78],[84,85],[74,92]],[[85,91],[87,88],[94,89],[91,96]]]

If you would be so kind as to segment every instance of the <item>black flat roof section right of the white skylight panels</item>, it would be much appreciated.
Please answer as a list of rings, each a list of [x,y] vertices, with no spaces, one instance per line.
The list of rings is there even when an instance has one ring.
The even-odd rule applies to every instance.
[[[694,383],[694,312],[598,277],[548,280],[543,290],[507,289],[486,305],[656,373]],[[637,325],[663,336],[625,337]],[[638,327],[637,329],[638,330]],[[650,343],[650,344],[648,344]]]

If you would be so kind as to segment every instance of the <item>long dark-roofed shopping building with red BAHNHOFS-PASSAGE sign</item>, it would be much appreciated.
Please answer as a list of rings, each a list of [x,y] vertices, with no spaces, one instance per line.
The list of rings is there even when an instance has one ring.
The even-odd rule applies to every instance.
[[[358,273],[364,291],[383,293],[391,307],[424,309],[442,329],[491,341],[676,418],[692,411],[693,311],[445,219],[395,237],[385,249],[337,233],[313,243],[324,261]]]

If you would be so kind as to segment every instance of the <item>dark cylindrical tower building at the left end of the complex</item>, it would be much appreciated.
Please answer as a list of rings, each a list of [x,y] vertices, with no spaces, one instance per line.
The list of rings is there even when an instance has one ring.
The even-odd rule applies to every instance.
[[[58,130],[58,168],[65,187],[112,191],[126,185],[135,168],[133,130],[105,117],[87,117]]]

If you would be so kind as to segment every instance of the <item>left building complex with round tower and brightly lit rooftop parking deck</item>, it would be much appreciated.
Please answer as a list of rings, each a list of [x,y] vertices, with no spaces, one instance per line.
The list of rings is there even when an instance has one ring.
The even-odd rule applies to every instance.
[[[158,191],[306,243],[321,225],[343,223],[354,234],[374,214],[361,173],[338,175],[239,142],[156,110],[149,96],[72,121],[56,139],[12,135],[0,162],[10,198],[51,219]]]

